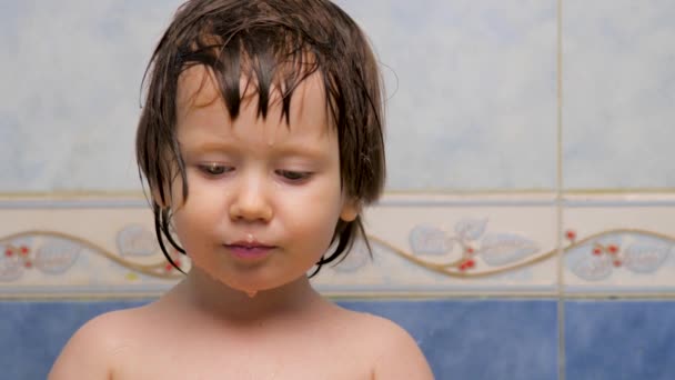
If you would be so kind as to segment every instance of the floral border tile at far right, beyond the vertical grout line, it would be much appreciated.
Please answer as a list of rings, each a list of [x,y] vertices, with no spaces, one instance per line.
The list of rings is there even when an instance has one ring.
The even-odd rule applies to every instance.
[[[675,197],[568,197],[564,206],[566,292],[675,292]]]

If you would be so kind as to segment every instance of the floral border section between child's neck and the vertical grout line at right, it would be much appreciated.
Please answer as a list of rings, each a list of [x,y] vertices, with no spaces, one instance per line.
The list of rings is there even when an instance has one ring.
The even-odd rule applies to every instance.
[[[555,210],[541,194],[387,197],[365,218],[373,260],[360,246],[315,283],[336,294],[555,294]]]

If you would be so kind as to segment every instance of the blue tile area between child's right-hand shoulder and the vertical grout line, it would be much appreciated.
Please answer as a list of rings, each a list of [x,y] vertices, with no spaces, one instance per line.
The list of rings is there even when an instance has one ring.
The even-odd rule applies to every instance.
[[[557,304],[546,300],[343,301],[396,321],[436,379],[557,379]]]

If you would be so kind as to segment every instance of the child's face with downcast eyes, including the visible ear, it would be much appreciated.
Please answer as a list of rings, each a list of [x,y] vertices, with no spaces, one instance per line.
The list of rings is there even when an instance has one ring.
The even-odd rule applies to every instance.
[[[179,176],[171,194],[177,234],[192,264],[214,279],[248,292],[280,287],[321,258],[339,219],[357,214],[341,189],[321,77],[293,93],[289,127],[278,94],[263,120],[253,91],[232,121],[214,82],[202,82],[205,72],[194,67],[179,80],[177,131],[189,197],[182,203]]]

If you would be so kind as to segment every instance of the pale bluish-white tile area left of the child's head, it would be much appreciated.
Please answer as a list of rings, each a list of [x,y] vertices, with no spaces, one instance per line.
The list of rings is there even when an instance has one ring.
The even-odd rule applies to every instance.
[[[0,192],[139,190],[141,80],[181,1],[12,2],[0,13]],[[4,8],[4,7],[3,7]]]

